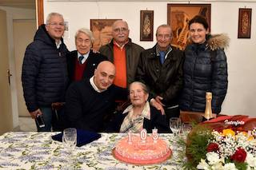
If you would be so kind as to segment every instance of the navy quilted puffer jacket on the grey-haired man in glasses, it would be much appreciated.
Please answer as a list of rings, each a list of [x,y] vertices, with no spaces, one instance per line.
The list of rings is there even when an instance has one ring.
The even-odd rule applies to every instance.
[[[57,49],[45,25],[39,26],[34,42],[26,48],[22,65],[23,93],[29,112],[64,101],[68,83],[67,52],[63,39]]]

